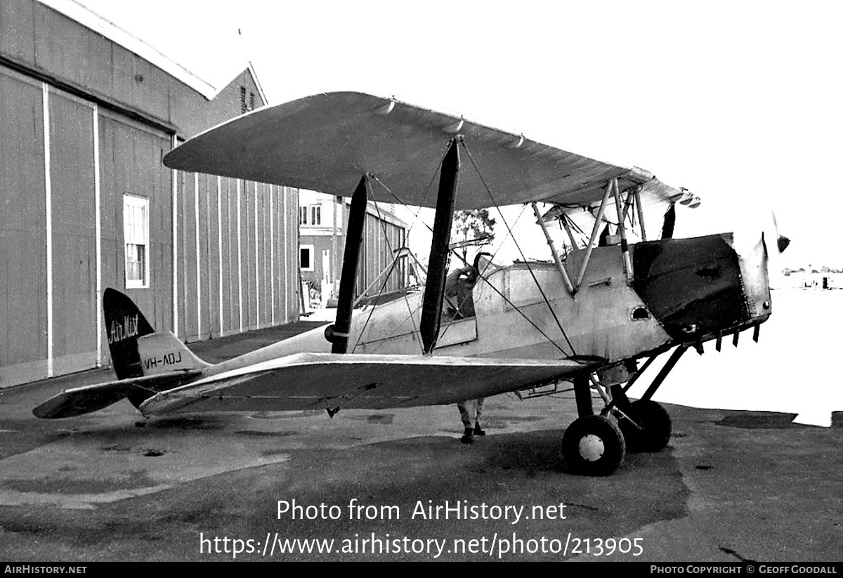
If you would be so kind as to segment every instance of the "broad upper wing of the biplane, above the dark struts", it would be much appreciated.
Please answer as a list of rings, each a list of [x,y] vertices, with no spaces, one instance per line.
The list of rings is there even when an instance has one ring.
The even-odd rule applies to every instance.
[[[201,133],[164,157],[172,169],[352,195],[374,174],[395,195],[376,201],[435,206],[429,186],[448,139],[464,136],[456,209],[529,201],[588,205],[607,180],[643,185],[648,200],[679,194],[642,169],[603,163],[451,115],[371,94],[317,94],[255,110]],[[491,195],[486,190],[486,185]]]

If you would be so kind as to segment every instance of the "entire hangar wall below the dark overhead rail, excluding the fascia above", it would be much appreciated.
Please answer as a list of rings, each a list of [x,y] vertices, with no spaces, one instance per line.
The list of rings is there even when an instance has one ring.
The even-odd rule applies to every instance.
[[[171,136],[2,66],[0,112],[0,387],[108,364],[108,286],[189,340],[298,318],[297,190],[176,174],[174,267]],[[123,195],[149,201],[144,289]]]

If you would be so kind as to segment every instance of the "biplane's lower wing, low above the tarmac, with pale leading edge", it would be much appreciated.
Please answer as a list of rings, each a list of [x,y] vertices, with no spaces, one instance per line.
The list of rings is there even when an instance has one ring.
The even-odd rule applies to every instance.
[[[158,393],[144,414],[451,404],[582,372],[569,360],[298,353]]]

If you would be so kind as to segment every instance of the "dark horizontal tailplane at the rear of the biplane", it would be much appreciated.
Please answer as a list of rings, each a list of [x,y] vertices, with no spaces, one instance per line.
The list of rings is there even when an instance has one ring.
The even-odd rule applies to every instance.
[[[143,392],[155,392],[162,388],[176,387],[185,380],[195,378],[200,374],[201,371],[169,372],[66,389],[55,397],[47,399],[46,402],[33,409],[32,413],[35,417],[47,420],[89,414],[117,403],[138,389]]]

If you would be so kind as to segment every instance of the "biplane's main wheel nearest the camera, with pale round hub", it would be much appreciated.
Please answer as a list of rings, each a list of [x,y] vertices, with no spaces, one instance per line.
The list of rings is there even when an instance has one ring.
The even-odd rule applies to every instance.
[[[605,476],[624,460],[624,436],[602,415],[577,418],[562,436],[562,457],[572,474]]]

